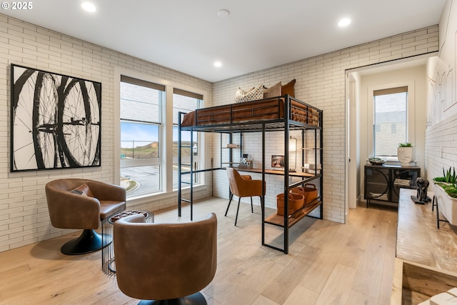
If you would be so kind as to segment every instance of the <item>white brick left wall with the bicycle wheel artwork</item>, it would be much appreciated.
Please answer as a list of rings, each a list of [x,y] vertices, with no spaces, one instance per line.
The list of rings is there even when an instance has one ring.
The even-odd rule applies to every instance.
[[[101,81],[102,126],[101,167],[52,171],[9,172],[10,149],[10,64],[20,64],[54,73]],[[56,229],[49,222],[44,194],[48,181],[66,177],[114,182],[114,68],[116,66],[148,74],[158,79],[186,84],[209,92],[211,83],[173,71],[126,54],[106,49],[70,36],[49,31],[0,14],[0,251],[6,251],[69,230]],[[211,144],[211,143],[210,143]],[[209,174],[207,174],[209,176]],[[209,179],[211,181],[211,179]],[[196,191],[199,199],[211,194]],[[176,194],[142,204],[157,210],[176,206]]]

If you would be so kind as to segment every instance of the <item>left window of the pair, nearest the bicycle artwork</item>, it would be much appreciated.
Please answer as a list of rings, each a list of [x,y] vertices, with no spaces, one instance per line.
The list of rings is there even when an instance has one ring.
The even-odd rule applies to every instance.
[[[165,87],[121,76],[121,184],[127,196],[161,186],[161,106]]]

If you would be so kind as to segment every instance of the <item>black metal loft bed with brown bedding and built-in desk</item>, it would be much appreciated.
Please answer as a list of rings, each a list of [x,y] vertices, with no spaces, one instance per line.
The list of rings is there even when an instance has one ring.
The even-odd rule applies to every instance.
[[[255,101],[246,101],[236,104],[228,104],[223,106],[214,106],[204,109],[196,109],[187,114],[179,112],[179,134],[178,134],[178,213],[181,216],[181,204],[187,202],[191,206],[191,219],[193,217],[193,184],[194,174],[204,171],[215,171],[225,169],[221,166],[211,169],[194,169],[193,154],[190,156],[190,164],[183,164],[182,162],[182,149],[191,149],[194,146],[194,132],[211,132],[220,134],[231,135],[239,133],[242,135],[247,132],[261,133],[262,137],[262,161],[261,169],[246,169],[238,167],[238,171],[257,172],[261,174],[261,179],[264,182],[266,174],[282,175],[284,177],[284,194],[288,194],[289,190],[296,186],[303,186],[310,181],[318,181],[318,197],[310,204],[299,209],[295,213],[288,215],[288,196],[284,196],[284,211],[283,216],[272,214],[266,216],[265,212],[265,196],[261,200],[262,210],[262,245],[268,246],[283,253],[288,254],[288,229],[291,228],[298,221],[303,219],[311,211],[319,209],[319,216],[311,216],[318,219],[323,219],[323,176],[322,176],[322,163],[323,163],[323,135],[322,135],[323,112],[314,106],[299,101],[292,96],[285,94],[268,99],[260,99]],[[265,159],[265,134],[268,131],[283,131],[284,139],[289,139],[289,131],[301,131],[301,143],[309,143],[308,139],[305,142],[305,134],[311,131],[313,136],[313,147],[303,147],[313,150],[315,164],[312,170],[305,169],[302,166],[301,171],[289,172],[276,171],[266,169]],[[190,145],[183,145],[181,132],[191,131]],[[241,140],[240,140],[241,141]],[[288,141],[284,141],[284,151],[288,151]],[[241,149],[241,146],[239,147]],[[288,154],[284,154],[284,169],[289,169]],[[301,164],[304,165],[304,153],[301,154]],[[232,161],[232,160],[231,160]],[[230,166],[233,163],[229,162]],[[318,166],[320,165],[320,167]],[[183,166],[187,166],[190,170],[183,171]],[[190,175],[190,181],[183,181],[183,175]],[[289,177],[298,177],[298,182],[289,184]],[[184,199],[182,194],[183,185],[190,186],[190,198]],[[263,187],[264,183],[262,184]],[[262,191],[265,194],[265,189]],[[283,228],[283,248],[267,244],[265,241],[265,227],[266,224],[279,226]]]

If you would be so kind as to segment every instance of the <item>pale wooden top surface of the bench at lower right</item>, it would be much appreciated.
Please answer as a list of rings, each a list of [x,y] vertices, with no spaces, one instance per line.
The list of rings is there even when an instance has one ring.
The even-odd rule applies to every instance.
[[[416,196],[416,190],[400,190],[396,256],[443,271],[457,272],[457,227],[441,222],[438,229],[432,203],[415,204],[411,196]],[[428,196],[433,198],[431,192]]]

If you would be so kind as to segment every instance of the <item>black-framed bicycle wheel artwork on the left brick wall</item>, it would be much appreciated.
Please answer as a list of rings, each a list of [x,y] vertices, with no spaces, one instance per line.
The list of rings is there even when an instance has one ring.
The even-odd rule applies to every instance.
[[[11,171],[101,165],[101,83],[11,64]]]

